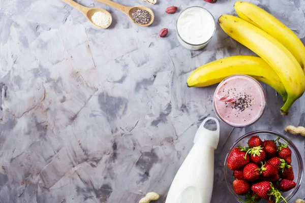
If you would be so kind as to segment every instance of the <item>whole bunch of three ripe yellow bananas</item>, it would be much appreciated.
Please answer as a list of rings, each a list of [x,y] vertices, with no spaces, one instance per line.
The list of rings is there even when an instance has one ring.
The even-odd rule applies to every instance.
[[[263,60],[240,56],[252,64],[249,67],[238,63],[240,58],[222,59],[218,68],[213,66],[220,60],[211,62],[195,70],[188,79],[188,85],[206,86],[217,83],[228,74],[249,75],[275,88],[283,96],[285,104],[281,113],[287,115],[291,105],[305,90],[302,70],[305,65],[305,47],[293,31],[259,7],[247,2],[236,2],[234,8],[240,18],[222,15],[219,18],[220,26],[231,38],[251,49]],[[232,65],[234,60],[236,65]],[[255,61],[260,68],[249,60]],[[226,69],[226,66],[232,68]]]

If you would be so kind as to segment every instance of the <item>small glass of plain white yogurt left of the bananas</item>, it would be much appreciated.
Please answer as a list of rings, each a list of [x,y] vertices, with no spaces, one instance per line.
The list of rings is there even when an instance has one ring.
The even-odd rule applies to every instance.
[[[191,50],[207,45],[216,30],[216,22],[210,12],[202,7],[190,7],[182,11],[176,22],[178,41]]]

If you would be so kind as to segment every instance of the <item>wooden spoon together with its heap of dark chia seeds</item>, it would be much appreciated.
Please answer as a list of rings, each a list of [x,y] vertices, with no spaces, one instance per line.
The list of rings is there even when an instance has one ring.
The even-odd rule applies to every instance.
[[[117,4],[115,2],[112,2],[110,0],[96,0],[97,2],[100,2],[102,4],[106,4],[110,7],[113,7],[123,13],[125,13],[126,15],[128,15],[128,17],[137,25],[140,26],[149,26],[154,22],[155,19],[155,14],[153,11],[151,11],[151,9],[147,8],[147,7],[142,7],[142,6],[136,6],[136,7],[126,7],[120,4]],[[144,10],[144,11],[143,11]],[[148,12],[148,13],[147,13]],[[149,16],[149,18],[146,19],[141,19],[137,16],[139,15],[146,15]]]

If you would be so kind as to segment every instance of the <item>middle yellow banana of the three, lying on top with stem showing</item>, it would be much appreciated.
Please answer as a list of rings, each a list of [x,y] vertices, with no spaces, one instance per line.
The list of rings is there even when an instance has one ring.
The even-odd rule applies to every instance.
[[[231,15],[222,15],[218,21],[231,38],[254,51],[278,74],[288,94],[281,108],[282,114],[287,115],[305,90],[305,75],[298,61],[279,41],[247,21]]]

